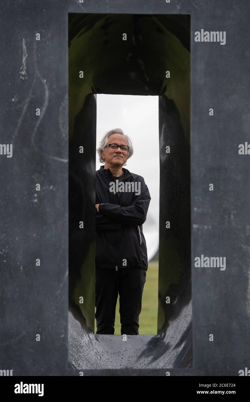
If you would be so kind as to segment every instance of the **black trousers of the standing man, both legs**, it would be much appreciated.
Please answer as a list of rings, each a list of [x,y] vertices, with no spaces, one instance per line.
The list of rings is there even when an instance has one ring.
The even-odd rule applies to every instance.
[[[142,268],[96,268],[96,333],[114,335],[119,293],[121,335],[138,335],[146,271]]]

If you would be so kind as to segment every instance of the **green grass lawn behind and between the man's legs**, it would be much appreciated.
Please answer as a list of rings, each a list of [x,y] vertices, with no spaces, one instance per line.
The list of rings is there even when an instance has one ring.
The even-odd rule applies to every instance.
[[[139,317],[139,334],[157,334],[158,312],[158,261],[150,261],[146,275],[146,283],[142,295],[142,311]],[[96,320],[95,320],[96,332]],[[115,335],[121,334],[119,295],[116,304]]]

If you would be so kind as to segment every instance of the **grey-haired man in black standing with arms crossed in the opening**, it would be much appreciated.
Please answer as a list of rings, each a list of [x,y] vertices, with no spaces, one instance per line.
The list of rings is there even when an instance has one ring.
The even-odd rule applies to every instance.
[[[119,293],[121,334],[138,335],[151,197],[144,178],[122,167],[133,146],[121,129],[108,131],[97,152],[104,165],[96,171],[96,333],[114,334]]]

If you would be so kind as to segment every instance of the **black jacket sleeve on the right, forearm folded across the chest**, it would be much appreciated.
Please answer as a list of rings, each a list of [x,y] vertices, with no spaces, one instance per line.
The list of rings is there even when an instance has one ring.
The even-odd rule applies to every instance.
[[[106,202],[99,205],[99,211],[107,217],[117,219],[122,226],[142,225],[146,221],[150,199],[148,187],[143,179],[140,195],[134,195],[132,205],[121,207],[121,205]]]

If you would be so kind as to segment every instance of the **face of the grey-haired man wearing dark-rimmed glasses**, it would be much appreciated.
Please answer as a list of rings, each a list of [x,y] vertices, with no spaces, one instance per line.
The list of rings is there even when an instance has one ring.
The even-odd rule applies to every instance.
[[[116,133],[108,137],[107,145],[108,144],[128,145],[128,142],[124,135]],[[106,147],[105,150],[102,151],[102,156],[104,162],[109,165],[122,166],[128,159],[128,151],[122,151],[120,147],[117,148],[117,150],[112,150],[110,147]]]

